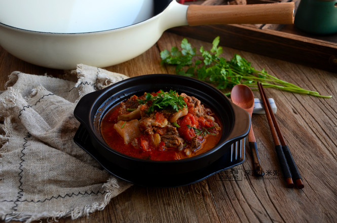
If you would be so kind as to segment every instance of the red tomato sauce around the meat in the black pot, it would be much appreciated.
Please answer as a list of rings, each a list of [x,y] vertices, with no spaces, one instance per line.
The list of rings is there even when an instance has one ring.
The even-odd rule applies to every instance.
[[[138,147],[136,148],[131,143],[125,144],[124,139],[114,129],[114,125],[118,122],[119,109],[120,105],[117,105],[110,109],[104,116],[101,122],[101,135],[109,147],[130,157],[163,161],[189,158],[205,153],[213,148],[219,141],[222,134],[221,122],[219,122],[219,118],[213,114],[212,117],[215,119],[215,122],[220,125],[221,130],[217,132],[216,135],[198,135],[197,137],[200,139],[202,145],[196,152],[193,152],[190,155],[186,155],[186,153],[182,150],[179,151],[178,148],[165,147],[163,142],[160,142],[159,145],[155,146],[153,144],[153,140],[148,138],[151,136],[144,134],[139,135],[137,138]],[[164,119],[164,116],[161,113],[156,113],[155,119],[156,121],[161,121]],[[190,146],[189,143],[191,143],[191,139],[196,136],[195,130],[201,129],[202,127],[209,128],[213,126],[213,122],[211,120],[205,119],[204,117],[196,117],[191,113],[179,118],[176,123],[180,126],[177,128],[177,131],[184,139],[184,146],[186,147]]]

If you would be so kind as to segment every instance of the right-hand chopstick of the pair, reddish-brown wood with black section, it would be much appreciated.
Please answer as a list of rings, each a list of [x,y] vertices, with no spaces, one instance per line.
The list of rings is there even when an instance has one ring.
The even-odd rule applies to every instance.
[[[266,93],[265,93],[265,90],[264,90],[262,84],[259,83],[259,86],[261,88],[261,92],[262,92],[264,98],[267,99],[267,96],[266,96]],[[266,104],[267,104],[268,110],[270,111],[271,110],[271,106],[270,106],[270,103],[269,103],[268,99],[266,100]],[[299,174],[297,166],[295,164],[295,161],[292,158],[292,155],[290,153],[289,147],[285,143],[285,140],[284,140],[283,135],[281,133],[280,127],[277,124],[277,121],[276,121],[274,113],[270,113],[270,116],[272,118],[272,121],[273,121],[274,127],[276,129],[277,135],[278,135],[278,137],[279,137],[279,139],[281,141],[282,151],[283,151],[283,154],[284,154],[284,156],[286,158],[287,164],[288,164],[288,166],[290,168],[290,172],[291,172],[292,178],[295,180],[295,185],[296,185],[296,187],[298,189],[303,189],[304,188],[304,184],[303,184],[303,181],[302,181],[302,178],[301,178],[301,174]]]

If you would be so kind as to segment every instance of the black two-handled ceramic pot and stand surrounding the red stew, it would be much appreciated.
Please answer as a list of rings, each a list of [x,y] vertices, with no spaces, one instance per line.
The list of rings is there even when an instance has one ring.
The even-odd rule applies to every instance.
[[[188,159],[152,161],[126,156],[105,143],[100,134],[100,122],[111,107],[132,95],[171,89],[195,96],[218,114],[223,130],[220,141],[212,150]],[[249,114],[222,92],[205,82],[177,75],[143,75],[92,92],[79,101],[74,116],[81,122],[74,141],[105,169],[126,181],[154,187],[193,183],[242,163],[244,145],[233,145],[242,143],[241,139],[248,134],[250,126]]]

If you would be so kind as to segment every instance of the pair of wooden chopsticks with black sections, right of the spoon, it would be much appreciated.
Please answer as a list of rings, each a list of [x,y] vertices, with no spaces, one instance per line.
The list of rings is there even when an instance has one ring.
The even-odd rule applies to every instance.
[[[304,188],[304,184],[302,182],[301,175],[298,172],[298,169],[296,167],[296,164],[292,158],[292,155],[290,153],[289,147],[286,145],[285,140],[283,138],[283,135],[281,133],[281,130],[279,128],[279,125],[277,124],[276,118],[271,111],[270,103],[267,99],[265,90],[262,86],[262,84],[257,83],[258,90],[261,95],[261,99],[263,100],[267,120],[269,123],[270,130],[272,132],[272,136],[275,143],[275,149],[277,152],[277,156],[279,158],[279,162],[287,183],[288,188],[294,187],[292,178],[295,179],[295,184],[298,189]],[[280,143],[281,142],[281,143]],[[281,145],[280,145],[281,144]],[[289,169],[290,168],[290,169]]]

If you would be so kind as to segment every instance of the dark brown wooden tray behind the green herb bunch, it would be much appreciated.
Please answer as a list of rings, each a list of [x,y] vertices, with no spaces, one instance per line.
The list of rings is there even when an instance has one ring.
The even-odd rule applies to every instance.
[[[193,2],[193,4],[205,4],[206,2],[218,4],[224,1],[207,0]],[[247,4],[279,2],[247,0]],[[291,2],[294,2],[297,8],[299,0]],[[275,24],[183,26],[168,31],[206,42],[212,42],[216,36],[220,36],[221,46],[332,72],[337,71],[337,34],[311,35],[298,30],[294,25]]]

